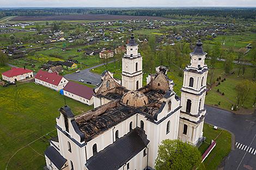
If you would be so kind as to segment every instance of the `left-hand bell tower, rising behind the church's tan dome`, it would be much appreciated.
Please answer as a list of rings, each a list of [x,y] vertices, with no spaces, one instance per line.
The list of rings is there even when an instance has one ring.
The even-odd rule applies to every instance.
[[[126,54],[122,59],[122,86],[129,90],[142,87],[142,56],[138,53],[138,44],[131,34],[131,39],[126,45]]]

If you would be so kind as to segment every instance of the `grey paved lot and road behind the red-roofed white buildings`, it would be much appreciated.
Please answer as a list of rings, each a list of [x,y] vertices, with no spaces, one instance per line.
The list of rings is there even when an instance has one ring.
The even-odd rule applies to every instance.
[[[114,60],[109,61],[108,63],[114,62]],[[90,81],[93,85],[96,85],[97,83],[101,82],[101,76],[99,74],[95,74],[90,72],[93,68],[103,66],[104,64],[96,65],[90,68],[86,68],[84,70],[81,70],[80,73],[72,73],[72,74],[66,74],[64,77],[68,80],[74,80],[78,81],[80,79],[84,80],[84,83],[87,81]]]

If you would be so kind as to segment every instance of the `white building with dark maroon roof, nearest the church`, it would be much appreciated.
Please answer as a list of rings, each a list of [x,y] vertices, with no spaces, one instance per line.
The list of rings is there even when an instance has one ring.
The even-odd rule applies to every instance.
[[[92,105],[94,102],[92,88],[72,81],[64,87],[63,95],[87,105]]]

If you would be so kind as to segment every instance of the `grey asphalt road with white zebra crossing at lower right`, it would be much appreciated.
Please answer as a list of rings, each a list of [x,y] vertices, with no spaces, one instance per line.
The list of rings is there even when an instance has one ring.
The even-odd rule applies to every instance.
[[[256,169],[256,111],[252,115],[235,115],[206,106],[205,122],[227,129],[235,135],[235,149],[225,160],[224,170]]]

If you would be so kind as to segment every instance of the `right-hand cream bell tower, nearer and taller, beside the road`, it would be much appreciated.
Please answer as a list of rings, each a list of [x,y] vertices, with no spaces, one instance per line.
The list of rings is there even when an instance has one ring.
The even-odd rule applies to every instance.
[[[206,109],[204,100],[208,67],[205,65],[203,43],[198,40],[194,51],[190,53],[190,65],[184,70],[181,87],[181,111],[179,139],[197,146],[203,140],[203,125]]]

